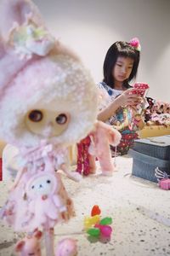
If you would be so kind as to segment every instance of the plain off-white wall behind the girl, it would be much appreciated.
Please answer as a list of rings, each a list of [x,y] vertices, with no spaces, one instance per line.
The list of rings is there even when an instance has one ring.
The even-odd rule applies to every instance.
[[[91,70],[102,76],[107,49],[117,40],[138,37],[142,46],[138,81],[149,96],[170,102],[169,0],[34,0],[51,32],[70,45]]]

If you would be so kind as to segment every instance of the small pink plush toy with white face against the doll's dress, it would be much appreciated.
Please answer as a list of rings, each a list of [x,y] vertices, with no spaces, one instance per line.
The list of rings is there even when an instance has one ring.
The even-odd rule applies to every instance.
[[[73,215],[71,201],[65,191],[60,194],[62,182],[59,173],[40,172],[28,180],[26,197],[29,201],[26,216],[22,217],[22,225],[33,231],[39,227],[51,229],[60,219],[65,218],[65,212]],[[26,219],[27,218],[27,219]]]

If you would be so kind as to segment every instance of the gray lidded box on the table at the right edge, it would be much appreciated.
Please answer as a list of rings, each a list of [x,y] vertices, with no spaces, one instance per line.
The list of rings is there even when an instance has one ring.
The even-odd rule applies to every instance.
[[[170,137],[150,137],[136,140],[128,154],[133,157],[133,172],[137,177],[157,182],[155,169],[158,166],[170,174]]]

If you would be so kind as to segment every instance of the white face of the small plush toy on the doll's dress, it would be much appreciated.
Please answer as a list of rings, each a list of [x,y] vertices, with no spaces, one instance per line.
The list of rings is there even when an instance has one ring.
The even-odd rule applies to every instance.
[[[59,190],[59,183],[53,174],[43,173],[31,178],[27,186],[27,195],[37,197],[41,195],[52,195],[55,189]]]

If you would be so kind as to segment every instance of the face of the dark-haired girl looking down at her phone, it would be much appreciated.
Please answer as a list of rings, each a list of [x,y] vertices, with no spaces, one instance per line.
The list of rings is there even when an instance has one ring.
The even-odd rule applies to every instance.
[[[115,67],[113,67],[112,75],[116,82],[123,82],[129,78],[133,70],[133,59],[118,57]]]

